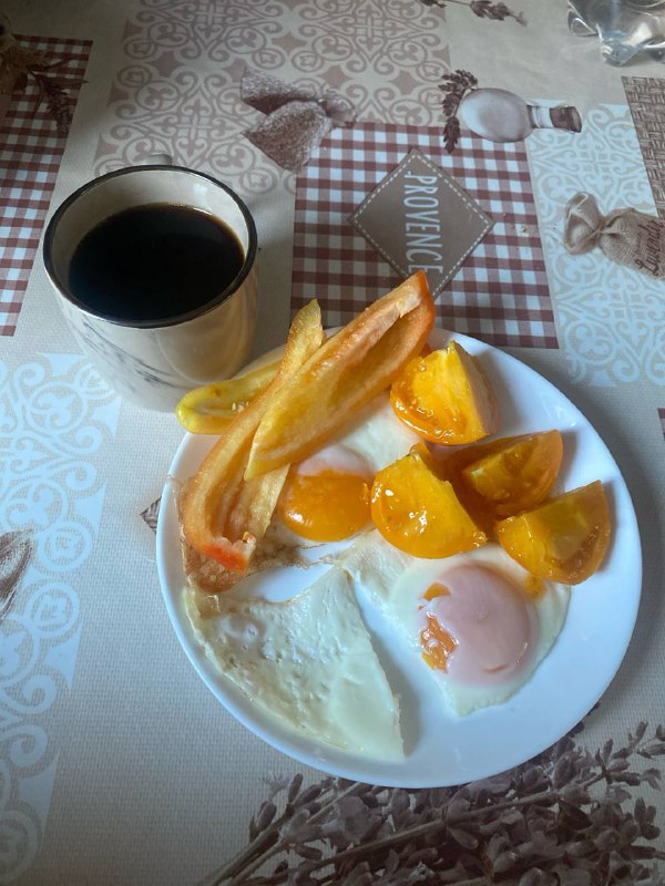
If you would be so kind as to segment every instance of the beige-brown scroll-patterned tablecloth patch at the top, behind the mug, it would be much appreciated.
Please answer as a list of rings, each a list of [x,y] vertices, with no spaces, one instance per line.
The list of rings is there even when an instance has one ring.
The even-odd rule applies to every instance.
[[[448,66],[438,12],[410,0],[142,0],[125,29],[127,63],[111,90],[95,173],[168,155],[246,194],[293,185],[243,136],[256,122],[239,94],[247,66],[293,70],[290,83],[339,93],[359,119],[434,124]]]

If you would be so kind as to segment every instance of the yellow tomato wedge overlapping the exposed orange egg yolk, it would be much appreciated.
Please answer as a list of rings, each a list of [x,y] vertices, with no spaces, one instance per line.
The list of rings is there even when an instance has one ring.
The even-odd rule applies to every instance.
[[[428,467],[418,446],[376,475],[371,517],[387,542],[415,557],[449,557],[487,542],[452,484]]]

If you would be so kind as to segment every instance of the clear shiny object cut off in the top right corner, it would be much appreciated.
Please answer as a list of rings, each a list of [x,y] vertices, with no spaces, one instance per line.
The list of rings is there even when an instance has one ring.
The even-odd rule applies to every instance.
[[[569,0],[569,28],[579,37],[597,34],[607,64],[625,64],[638,52],[665,56],[664,0]]]

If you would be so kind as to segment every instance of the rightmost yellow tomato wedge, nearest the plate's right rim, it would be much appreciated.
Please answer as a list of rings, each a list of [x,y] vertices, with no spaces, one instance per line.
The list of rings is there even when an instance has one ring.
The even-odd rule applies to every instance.
[[[611,525],[600,481],[497,524],[501,547],[536,578],[579,585],[605,557]]]

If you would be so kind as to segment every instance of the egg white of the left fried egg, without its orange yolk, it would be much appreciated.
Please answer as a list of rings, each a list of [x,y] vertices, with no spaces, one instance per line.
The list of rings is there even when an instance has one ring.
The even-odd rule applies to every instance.
[[[419,440],[395,415],[387,393],[365,406],[304,463],[374,475]],[[329,562],[347,543],[321,544],[296,535],[276,513],[263,555],[273,566]],[[279,601],[235,590],[184,590],[197,642],[219,671],[269,718],[352,753],[403,759],[399,705],[365,627],[348,575],[331,568],[297,596]]]

